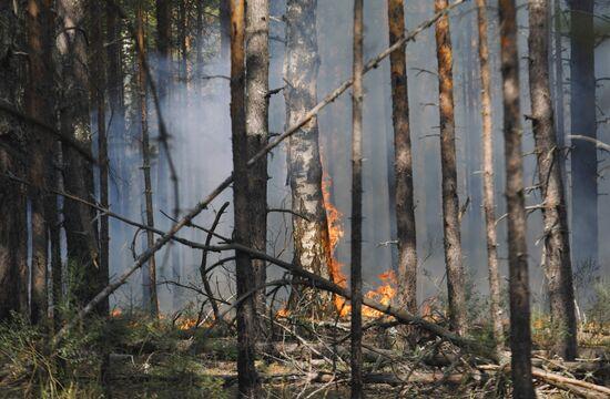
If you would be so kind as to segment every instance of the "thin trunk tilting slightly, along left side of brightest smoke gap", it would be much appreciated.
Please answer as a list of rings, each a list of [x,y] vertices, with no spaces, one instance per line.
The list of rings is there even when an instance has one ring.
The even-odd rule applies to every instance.
[[[143,4],[138,4],[135,13],[136,24],[136,45],[138,45],[138,90],[140,102],[140,129],[142,133],[142,172],[144,173],[144,201],[146,211],[146,226],[154,227],[154,209],[152,201],[152,181],[151,181],[151,147],[149,143],[149,110],[146,104],[146,71],[145,71],[145,42],[144,42],[144,21],[143,21]],[[146,232],[146,245],[154,245],[154,233]],[[154,256],[149,259],[148,280],[144,282],[149,304],[144,304],[152,317],[159,315],[159,301],[156,299],[156,263]]]

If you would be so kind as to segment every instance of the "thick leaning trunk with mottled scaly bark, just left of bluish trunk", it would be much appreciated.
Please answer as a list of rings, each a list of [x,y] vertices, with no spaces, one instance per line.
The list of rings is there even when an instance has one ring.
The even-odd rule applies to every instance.
[[[531,121],[538,160],[538,181],[542,193],[545,219],[546,275],[551,318],[558,337],[553,350],[566,360],[577,351],[575,294],[568,217],[560,152],[553,131],[553,113],[549,83],[548,0],[529,0],[529,90]]]

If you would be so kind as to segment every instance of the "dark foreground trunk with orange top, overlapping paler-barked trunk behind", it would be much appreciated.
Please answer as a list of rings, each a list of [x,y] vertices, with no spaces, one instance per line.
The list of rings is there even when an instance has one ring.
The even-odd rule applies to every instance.
[[[231,0],[231,124],[233,142],[234,233],[237,243],[250,246],[247,135],[245,119],[245,0]],[[254,286],[248,254],[236,252],[237,297]],[[237,306],[237,379],[241,398],[256,398],[258,377],[254,367],[256,309],[252,295]]]

